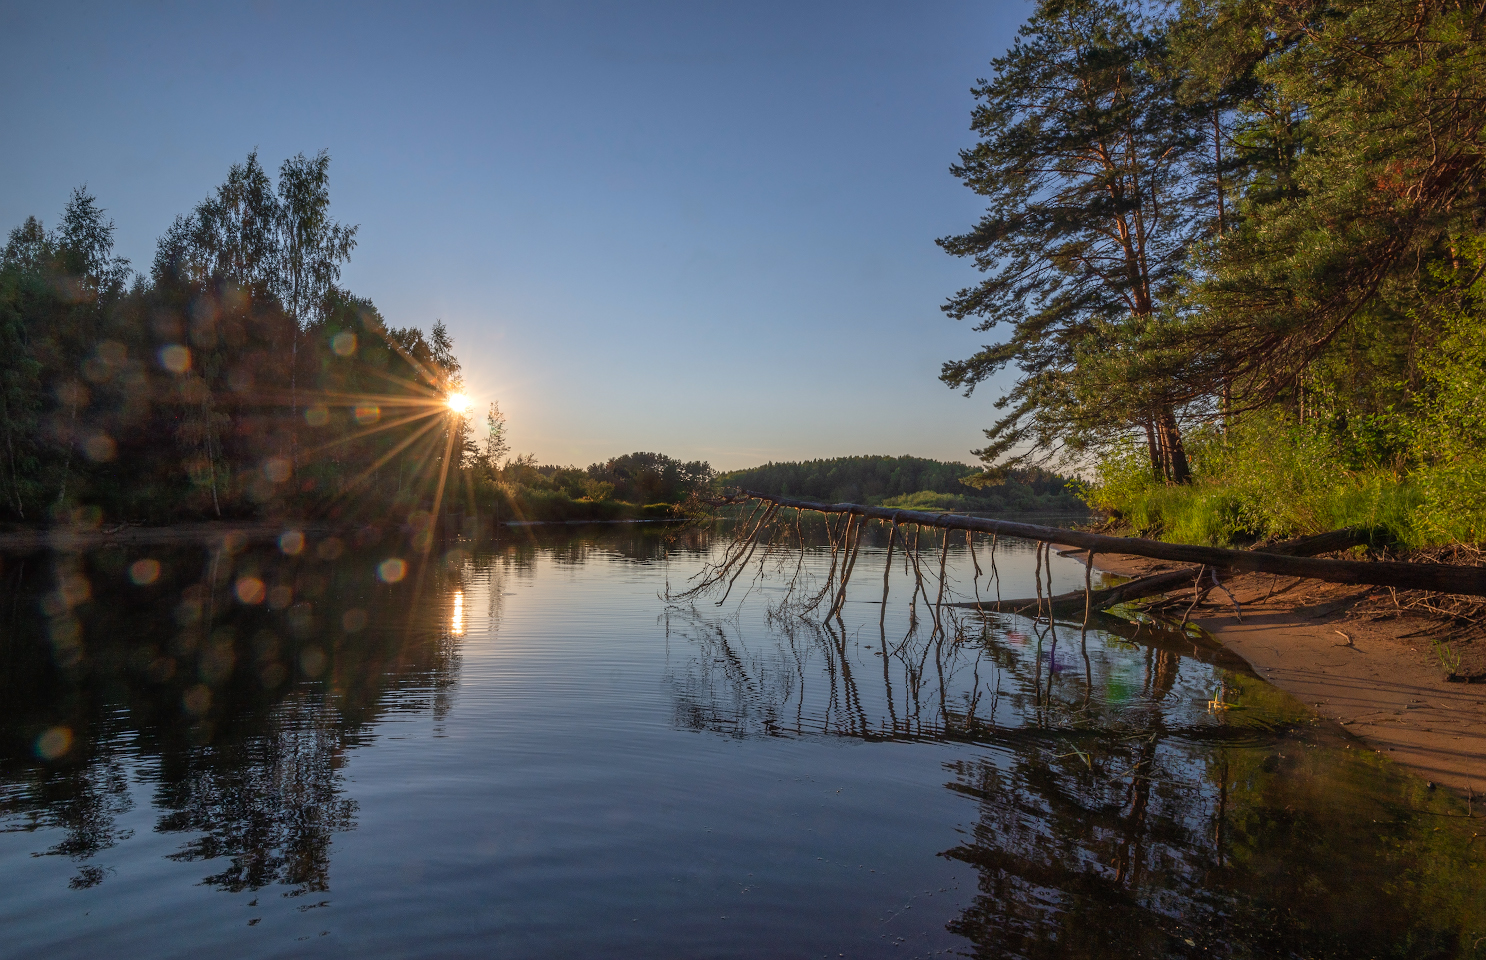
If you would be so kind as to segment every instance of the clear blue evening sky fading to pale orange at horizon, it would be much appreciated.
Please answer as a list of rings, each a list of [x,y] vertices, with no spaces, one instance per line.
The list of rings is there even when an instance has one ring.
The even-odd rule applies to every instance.
[[[342,273],[443,320],[517,452],[719,470],[973,461],[1008,379],[939,367],[996,333],[935,239],[970,88],[1030,4],[0,3],[0,229],[79,184],[147,269],[257,149],[328,150]]]

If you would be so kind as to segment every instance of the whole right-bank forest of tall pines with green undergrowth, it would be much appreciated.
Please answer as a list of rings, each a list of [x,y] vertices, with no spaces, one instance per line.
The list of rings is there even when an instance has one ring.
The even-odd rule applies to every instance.
[[[976,455],[1132,532],[1486,539],[1486,28],[1447,0],[1043,0],[951,168]],[[999,376],[999,374],[1006,376]]]

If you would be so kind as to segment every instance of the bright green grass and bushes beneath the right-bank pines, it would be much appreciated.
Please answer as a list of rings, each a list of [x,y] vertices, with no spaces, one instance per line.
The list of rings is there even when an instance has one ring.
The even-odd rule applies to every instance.
[[[1189,434],[1190,483],[1155,477],[1132,438],[1107,452],[1082,496],[1132,532],[1174,542],[1342,526],[1413,550],[1486,542],[1486,322],[1459,311],[1438,324],[1392,400],[1372,412],[1348,403],[1340,374],[1317,377],[1305,419],[1272,407],[1227,432]]]

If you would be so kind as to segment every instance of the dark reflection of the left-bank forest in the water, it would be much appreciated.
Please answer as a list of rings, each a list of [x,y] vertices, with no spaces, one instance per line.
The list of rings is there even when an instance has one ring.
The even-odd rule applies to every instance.
[[[421,623],[412,584],[382,583],[385,551],[291,545],[7,559],[0,819],[64,831],[37,854],[77,863],[73,887],[107,878],[95,860],[129,838],[116,823],[137,782],[155,829],[187,835],[171,859],[218,868],[204,883],[322,892],[331,837],[355,826],[345,753],[385,694],[447,712],[459,630]],[[435,596],[465,575],[426,566]]]

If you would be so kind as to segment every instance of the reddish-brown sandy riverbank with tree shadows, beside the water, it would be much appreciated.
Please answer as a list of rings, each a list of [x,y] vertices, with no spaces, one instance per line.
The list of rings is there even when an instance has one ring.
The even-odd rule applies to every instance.
[[[1175,565],[1101,553],[1095,569],[1144,577]],[[1486,632],[1375,587],[1268,574],[1224,586],[1242,612],[1214,590],[1192,623],[1372,749],[1464,797],[1486,792]],[[1168,596],[1190,603],[1192,590]]]

